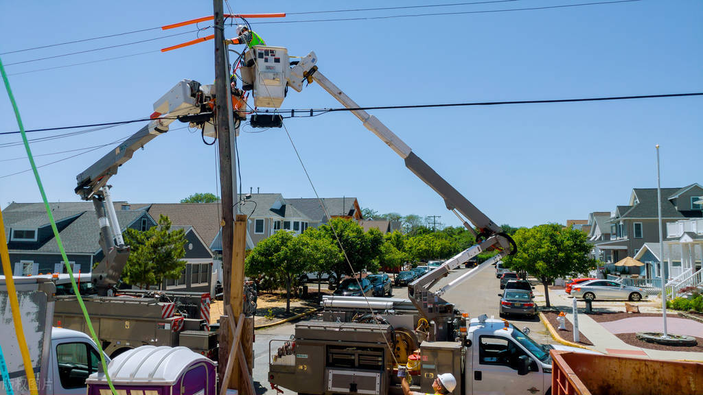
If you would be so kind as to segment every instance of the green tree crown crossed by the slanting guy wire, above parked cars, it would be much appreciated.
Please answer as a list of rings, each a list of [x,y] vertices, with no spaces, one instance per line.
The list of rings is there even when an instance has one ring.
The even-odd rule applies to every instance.
[[[334,231],[333,231],[334,229]],[[340,248],[340,243],[344,247],[344,252],[347,253],[347,258],[352,264],[349,264],[346,259],[336,262],[333,265],[333,271],[338,275],[352,274],[352,271],[359,272],[366,268],[369,271],[378,270],[378,254],[383,243],[383,236],[378,229],[370,229],[368,233],[364,233],[363,228],[356,222],[349,219],[335,218],[330,221],[330,224],[324,224],[319,227],[319,230],[334,240],[337,248]],[[335,238],[335,233],[339,238]],[[343,253],[340,249],[340,253]],[[340,279],[337,278],[337,281]]]

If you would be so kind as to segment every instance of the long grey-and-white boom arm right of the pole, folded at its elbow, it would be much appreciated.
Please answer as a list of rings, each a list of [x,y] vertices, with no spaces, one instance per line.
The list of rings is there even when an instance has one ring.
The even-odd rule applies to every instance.
[[[435,330],[432,334],[434,335],[433,337],[442,339],[449,333],[447,332],[449,325],[445,325],[445,321],[453,319],[454,306],[444,299],[441,299],[441,295],[449,291],[452,287],[462,283],[464,280],[467,280],[467,278],[474,276],[475,273],[486,265],[492,264],[508,254],[515,253],[517,250],[515,242],[512,241],[510,236],[501,232],[500,226],[494,224],[486,214],[477,209],[475,205],[472,205],[456,188],[439,176],[425,161],[415,155],[411,148],[388,129],[385,124],[382,124],[378,118],[369,115],[368,112],[364,110],[358,110],[360,106],[318,70],[315,65],[316,61],[317,56],[314,52],[311,52],[297,65],[292,67],[288,77],[288,85],[296,91],[301,91],[302,82],[304,80],[307,79],[309,83],[314,80],[320,84],[325,91],[344,105],[345,108],[351,109],[352,113],[363,122],[363,126],[366,127],[366,129],[372,131],[373,134],[378,136],[378,138],[394,150],[396,154],[400,155],[405,161],[406,167],[444,199],[447,209],[454,212],[463,222],[463,225],[474,233],[477,238],[477,245],[460,252],[451,259],[448,259],[438,268],[435,268],[433,271],[430,271],[425,274],[425,276],[418,278],[418,280],[408,285],[408,296],[411,298],[415,307],[425,318],[434,320]],[[474,232],[472,226],[468,224],[467,221],[479,230],[478,234]],[[458,267],[463,262],[468,261],[480,252],[488,249],[496,249],[499,252],[496,256],[484,261],[479,267],[453,280],[438,291],[430,292],[430,287],[437,283],[440,278],[449,274],[449,271],[453,268]]]

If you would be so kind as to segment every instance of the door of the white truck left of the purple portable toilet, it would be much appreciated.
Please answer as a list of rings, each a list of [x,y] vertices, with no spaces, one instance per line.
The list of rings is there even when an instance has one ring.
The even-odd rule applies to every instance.
[[[84,395],[86,379],[98,371],[100,356],[84,339],[59,339],[52,350],[53,380],[47,394]]]

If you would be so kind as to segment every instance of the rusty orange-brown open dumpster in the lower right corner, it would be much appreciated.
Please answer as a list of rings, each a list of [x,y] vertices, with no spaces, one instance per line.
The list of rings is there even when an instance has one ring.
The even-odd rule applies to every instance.
[[[703,363],[550,353],[554,395],[703,395]]]

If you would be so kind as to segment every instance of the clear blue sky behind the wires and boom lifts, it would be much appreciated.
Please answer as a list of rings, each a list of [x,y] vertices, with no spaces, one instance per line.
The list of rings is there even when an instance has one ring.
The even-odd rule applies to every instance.
[[[588,1],[517,0],[387,11],[290,15],[285,21],[493,11]],[[0,53],[148,29],[212,14],[209,1],[6,2]],[[444,1],[442,2],[444,4]],[[406,1],[230,1],[235,13],[308,12]],[[432,2],[425,2],[432,5]],[[703,2],[643,0],[534,11],[463,13],[327,22],[251,20],[269,45],[318,55],[320,70],[360,105],[413,105],[626,96],[703,91]],[[264,23],[266,22],[266,23]],[[200,27],[209,26],[207,23]],[[181,79],[212,83],[212,41],[178,51],[159,48],[194,39],[193,27],[0,55],[27,129],[148,117]],[[49,60],[86,51],[185,33]],[[212,29],[200,32],[211,34]],[[234,28],[226,31],[234,36]],[[148,54],[130,56],[152,51]],[[109,61],[62,67],[47,67]],[[702,97],[597,103],[371,111],[413,151],[498,224],[533,226],[586,219],[628,202],[632,188],[703,183]],[[337,108],[320,86],[290,91],[283,108]],[[142,124],[32,143],[34,155],[104,145]],[[379,212],[439,215],[458,225],[429,187],[348,112],[285,122],[322,197],[354,196]],[[215,192],[214,147],[178,129],[160,136],[120,168],[115,200],[177,202]],[[5,93],[0,131],[17,125]],[[65,134],[51,131],[30,138]],[[0,176],[29,169],[18,135],[0,136]],[[243,127],[238,138],[243,188],[314,197],[283,129]],[[115,145],[39,169],[52,201],[76,201],[75,176]],[[37,157],[38,164],[83,151]],[[22,160],[11,160],[24,157]],[[0,178],[0,206],[37,202],[31,172]]]

